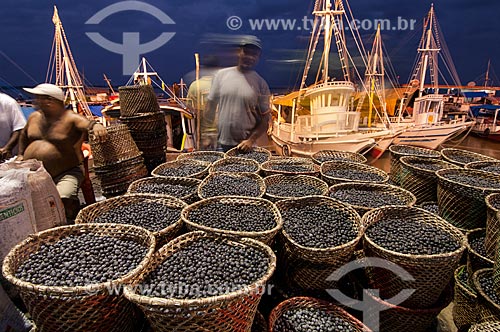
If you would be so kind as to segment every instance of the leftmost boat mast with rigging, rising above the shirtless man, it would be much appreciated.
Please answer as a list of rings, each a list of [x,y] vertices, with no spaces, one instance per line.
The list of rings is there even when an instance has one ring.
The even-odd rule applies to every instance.
[[[55,69],[56,72],[55,84],[67,90],[71,101],[71,107],[75,113],[81,112],[83,115],[90,118],[92,117],[92,112],[90,112],[86,101],[82,79],[80,78],[73,55],[71,54],[69,43],[66,39],[66,34],[64,33],[64,28],[56,6],[54,6],[52,22],[55,26],[55,55],[53,60],[54,64],[52,65],[52,69]],[[80,110],[78,106],[80,106]]]

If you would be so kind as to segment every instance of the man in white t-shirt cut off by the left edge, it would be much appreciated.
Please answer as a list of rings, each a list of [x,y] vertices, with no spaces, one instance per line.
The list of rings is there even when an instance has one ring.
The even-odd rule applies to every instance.
[[[19,134],[25,125],[26,119],[16,100],[0,93],[0,161],[17,154]]]

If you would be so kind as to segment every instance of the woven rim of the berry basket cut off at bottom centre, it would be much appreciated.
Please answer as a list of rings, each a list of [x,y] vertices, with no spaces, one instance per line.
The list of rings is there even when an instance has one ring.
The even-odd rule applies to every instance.
[[[285,332],[285,330],[277,330],[276,324],[283,314],[289,310],[295,309],[315,309],[327,313],[333,317],[342,319],[343,321],[349,323],[349,331],[359,331],[359,332],[369,332],[371,331],[366,325],[360,322],[357,318],[349,314],[344,309],[313,297],[292,297],[288,300],[281,302],[277,307],[275,307],[271,314],[269,315],[269,331],[270,332]],[[289,331],[289,330],[286,330]],[[292,330],[290,330],[292,331]],[[295,330],[293,330],[295,331]],[[333,326],[324,326],[324,331],[339,331]]]

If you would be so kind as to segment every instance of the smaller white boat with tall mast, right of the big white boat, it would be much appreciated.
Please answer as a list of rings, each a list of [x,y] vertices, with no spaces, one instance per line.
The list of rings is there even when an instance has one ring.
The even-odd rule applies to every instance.
[[[431,5],[424,20],[422,38],[417,48],[415,70],[407,91],[401,98],[398,116],[391,119],[393,127],[405,128],[404,132],[394,139],[393,144],[414,145],[434,150],[472,127],[473,122],[468,121],[466,114],[454,119],[443,119],[445,96],[439,93],[438,53],[444,45],[442,38],[439,37],[434,5]],[[449,64],[447,67],[452,68],[454,72],[452,77],[457,80],[457,85],[461,85],[454,65]],[[430,88],[426,90],[427,74],[429,74]],[[417,96],[411,105],[413,93]],[[409,113],[407,118],[403,117],[405,111]]]

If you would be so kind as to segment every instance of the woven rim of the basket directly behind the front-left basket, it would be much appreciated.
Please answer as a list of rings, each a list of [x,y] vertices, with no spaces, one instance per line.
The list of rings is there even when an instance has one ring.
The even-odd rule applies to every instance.
[[[133,198],[144,198],[145,200],[160,199],[162,201],[167,201],[167,202],[161,202],[161,204],[167,205],[168,207],[172,207],[173,205],[182,206],[182,208],[179,208],[179,210],[181,210],[181,211],[182,211],[182,209],[184,209],[188,205],[184,201],[182,201],[181,199],[174,197],[174,196],[170,196],[170,195],[149,194],[149,193],[130,193],[130,194],[126,193],[124,195],[111,197],[111,198],[108,198],[106,200],[96,202],[94,204],[90,204],[90,205],[84,207],[83,209],[80,210],[80,212],[76,216],[75,224],[108,224],[108,223],[95,223],[93,221],[88,222],[88,221],[83,220],[82,216],[87,211],[91,211],[92,209],[94,209],[96,207],[106,206],[106,205],[113,203],[115,201],[126,201],[127,199],[130,199],[130,198],[132,198],[132,199]],[[126,203],[131,203],[131,202],[126,202]],[[142,226],[137,226],[137,227],[144,228],[144,229],[148,230],[149,232],[151,232],[155,237],[157,237],[157,236],[162,236],[163,234],[167,234],[167,233],[171,232],[172,230],[179,227],[181,224],[182,224],[182,219],[179,216],[179,219],[177,219],[174,223],[168,225],[165,228],[162,228],[159,231],[151,231],[151,230],[148,230],[147,228],[142,227]],[[119,224],[119,225],[131,225],[131,224]],[[132,226],[136,226],[136,225],[132,225]]]

